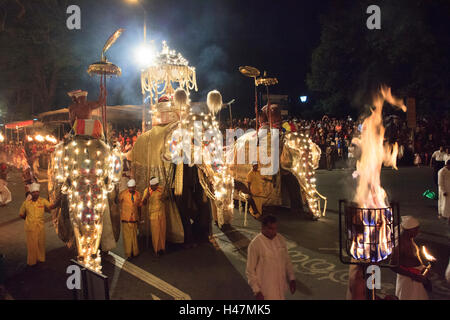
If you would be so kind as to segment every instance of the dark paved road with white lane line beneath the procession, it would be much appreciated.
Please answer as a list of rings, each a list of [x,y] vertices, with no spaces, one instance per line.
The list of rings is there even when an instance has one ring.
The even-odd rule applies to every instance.
[[[422,197],[426,189],[433,188],[431,175],[429,168],[383,169],[382,185],[389,199],[400,203],[402,214],[420,220],[418,244],[426,244],[437,258],[431,298],[450,299],[450,286],[443,280],[449,261],[450,229],[437,219],[437,201]],[[14,183],[15,179],[19,182]],[[50,215],[45,224],[47,262],[36,269],[26,268],[25,232],[17,214],[23,186],[17,173],[11,174],[10,180],[13,202],[0,208],[0,252],[6,257],[9,293],[15,299],[71,299],[65,270],[75,252],[59,240]],[[292,300],[345,299],[348,266],[339,260],[338,200],[351,199],[355,185],[349,170],[319,170],[317,180],[319,192],[328,197],[326,217],[313,222],[282,208],[275,211],[298,279],[297,292],[287,297]],[[244,216],[236,209],[231,229],[222,232],[213,227],[213,243],[191,249],[169,246],[161,258],[145,251],[131,263],[124,262],[120,240],[111,255],[103,259],[111,298],[252,299],[245,278],[246,250],[259,232],[259,223],[248,218],[248,226],[244,227]],[[394,285],[395,274],[383,269],[380,293],[393,294]]]

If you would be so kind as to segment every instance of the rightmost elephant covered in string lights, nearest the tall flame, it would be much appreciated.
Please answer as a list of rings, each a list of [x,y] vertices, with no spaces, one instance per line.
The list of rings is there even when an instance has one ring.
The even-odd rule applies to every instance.
[[[303,212],[302,203],[305,203],[311,218],[325,214],[326,198],[317,191],[315,178],[321,151],[306,132],[283,133],[276,126],[272,129],[262,126],[256,134],[254,129],[250,129],[228,152],[228,157],[234,158],[230,169],[235,181],[236,200],[250,199],[247,174],[252,169],[251,163],[258,161],[264,178],[262,194],[259,195],[263,206],[289,204],[292,212]],[[321,200],[324,202],[323,211]]]

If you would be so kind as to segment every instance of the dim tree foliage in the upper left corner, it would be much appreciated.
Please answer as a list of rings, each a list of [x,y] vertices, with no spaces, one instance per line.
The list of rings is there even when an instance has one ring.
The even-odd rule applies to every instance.
[[[0,1],[0,94],[11,118],[54,106],[59,87],[70,81],[77,62],[60,0]],[[64,81],[63,81],[64,80]]]

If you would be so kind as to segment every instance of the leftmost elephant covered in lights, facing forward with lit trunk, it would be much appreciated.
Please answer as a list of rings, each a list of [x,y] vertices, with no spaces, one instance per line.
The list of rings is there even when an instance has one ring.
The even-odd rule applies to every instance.
[[[100,139],[76,135],[56,146],[49,167],[49,194],[62,193],[61,208],[54,214],[59,237],[69,246],[76,243],[78,261],[100,272],[102,250],[115,247],[108,194],[122,174],[119,150]],[[115,219],[114,217],[115,216]]]

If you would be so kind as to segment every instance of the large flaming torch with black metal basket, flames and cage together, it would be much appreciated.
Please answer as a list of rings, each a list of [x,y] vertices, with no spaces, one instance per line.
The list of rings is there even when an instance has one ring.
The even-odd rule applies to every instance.
[[[363,122],[361,137],[352,141],[361,149],[361,158],[354,175],[358,177],[355,197],[351,203],[346,200],[339,202],[340,256],[345,264],[367,267],[375,263],[386,266],[381,265],[381,262],[389,257],[396,245],[395,234],[400,224],[399,207],[398,204],[389,204],[380,179],[383,165],[397,169],[398,145],[389,145],[384,139],[382,110],[385,101],[406,111],[403,101],[393,97],[390,88],[381,86],[374,96],[372,113]],[[343,215],[344,231],[341,222]],[[346,237],[346,252],[353,258],[352,261],[343,258],[342,235]]]

